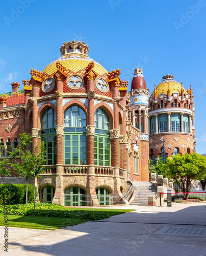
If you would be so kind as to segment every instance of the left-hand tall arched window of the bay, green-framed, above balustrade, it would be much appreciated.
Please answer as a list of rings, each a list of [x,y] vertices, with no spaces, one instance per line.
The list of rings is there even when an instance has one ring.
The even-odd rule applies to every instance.
[[[50,106],[41,116],[41,140],[45,143],[47,164],[57,164],[56,112]]]

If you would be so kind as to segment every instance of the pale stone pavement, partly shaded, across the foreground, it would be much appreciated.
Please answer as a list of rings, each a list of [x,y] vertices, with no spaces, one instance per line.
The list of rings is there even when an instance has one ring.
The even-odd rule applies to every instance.
[[[10,227],[9,252],[0,227],[0,255],[205,256],[205,206],[117,206],[136,211],[55,231]]]

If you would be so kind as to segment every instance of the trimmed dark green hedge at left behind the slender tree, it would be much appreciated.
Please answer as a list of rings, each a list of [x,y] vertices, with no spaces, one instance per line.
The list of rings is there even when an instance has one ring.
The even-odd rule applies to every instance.
[[[37,195],[37,191],[36,191]],[[26,184],[0,184],[0,204],[24,204],[26,202]],[[34,186],[28,184],[28,203],[34,202]]]

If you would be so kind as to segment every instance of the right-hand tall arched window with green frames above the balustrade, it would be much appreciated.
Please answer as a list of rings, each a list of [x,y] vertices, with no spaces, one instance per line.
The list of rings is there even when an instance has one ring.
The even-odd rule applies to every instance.
[[[94,113],[94,165],[110,166],[110,118],[103,108]]]

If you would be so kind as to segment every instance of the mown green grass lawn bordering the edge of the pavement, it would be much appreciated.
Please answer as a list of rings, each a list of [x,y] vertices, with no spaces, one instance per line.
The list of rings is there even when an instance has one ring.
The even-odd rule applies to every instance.
[[[111,217],[114,215],[124,214],[125,212],[133,211],[128,209],[96,209],[96,208],[56,208],[60,210],[88,210],[88,211],[104,211]],[[32,217],[32,216],[8,216],[9,227],[33,228],[55,230],[61,227],[73,226],[84,223],[89,220],[68,219],[68,218],[53,218],[53,217]],[[0,215],[0,226],[5,226],[4,216]]]

